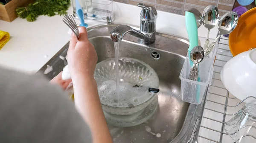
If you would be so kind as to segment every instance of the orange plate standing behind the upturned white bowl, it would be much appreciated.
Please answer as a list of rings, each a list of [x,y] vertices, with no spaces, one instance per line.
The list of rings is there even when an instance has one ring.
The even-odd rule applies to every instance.
[[[239,17],[235,30],[229,35],[229,46],[233,56],[256,48],[256,8]]]

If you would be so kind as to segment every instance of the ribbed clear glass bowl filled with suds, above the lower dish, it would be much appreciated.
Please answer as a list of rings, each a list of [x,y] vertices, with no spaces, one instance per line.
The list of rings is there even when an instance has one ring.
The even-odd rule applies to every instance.
[[[126,98],[127,100],[133,100],[130,101],[132,102],[133,106],[129,106],[127,102],[126,105],[121,106],[119,106],[118,104],[107,104],[104,100],[102,100],[106,98],[103,94],[111,94],[114,96],[114,93],[116,93],[116,66],[114,58],[104,60],[96,65],[94,78],[98,85],[101,103],[106,112],[111,112],[113,114],[119,115],[133,114],[134,112],[143,109],[143,107],[146,107],[150,103],[150,101],[154,99],[156,93],[148,92],[147,88],[158,88],[159,79],[157,73],[148,64],[142,61],[132,58],[120,58],[118,62],[120,89],[123,89],[123,92],[129,92],[129,94],[125,94],[125,96],[128,95],[129,97],[122,98]],[[105,86],[106,81],[108,81],[107,86]],[[136,87],[136,85],[140,85],[140,87]],[[109,92],[101,92],[102,88],[111,88],[111,90],[109,90]],[[140,94],[132,95],[132,90],[138,89],[140,90]],[[122,93],[122,91],[120,91],[120,93]],[[113,98],[111,99],[114,100]],[[136,99],[140,101],[137,103],[134,102],[134,100],[136,101]],[[120,110],[119,112],[116,110],[116,108],[122,110]]]

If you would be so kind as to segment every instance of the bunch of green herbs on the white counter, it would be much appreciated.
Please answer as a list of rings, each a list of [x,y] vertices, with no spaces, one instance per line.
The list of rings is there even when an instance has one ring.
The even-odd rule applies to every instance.
[[[23,8],[16,8],[18,17],[26,18],[27,21],[35,21],[39,15],[52,17],[56,14],[67,14],[70,0],[36,0]]]

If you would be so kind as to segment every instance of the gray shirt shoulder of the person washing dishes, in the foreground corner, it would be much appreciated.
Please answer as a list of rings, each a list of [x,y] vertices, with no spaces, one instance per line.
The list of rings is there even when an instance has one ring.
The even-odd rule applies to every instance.
[[[0,68],[0,143],[92,143],[65,94],[41,75]]]

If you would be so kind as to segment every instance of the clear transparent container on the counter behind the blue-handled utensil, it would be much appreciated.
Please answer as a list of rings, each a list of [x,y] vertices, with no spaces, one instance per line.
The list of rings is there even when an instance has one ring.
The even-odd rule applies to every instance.
[[[113,14],[113,0],[79,0],[79,3],[84,11],[84,17],[112,22],[114,20]],[[73,14],[76,18],[76,0],[72,0]]]

